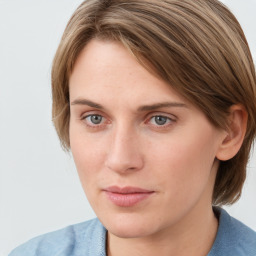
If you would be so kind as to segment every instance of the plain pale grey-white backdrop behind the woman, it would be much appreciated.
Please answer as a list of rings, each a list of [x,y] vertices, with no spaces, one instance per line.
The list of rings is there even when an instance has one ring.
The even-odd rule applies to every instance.
[[[81,0],[0,0],[0,255],[36,235],[94,217],[51,122],[51,62]],[[256,58],[256,0],[223,0]],[[227,210],[256,230],[256,154]]]

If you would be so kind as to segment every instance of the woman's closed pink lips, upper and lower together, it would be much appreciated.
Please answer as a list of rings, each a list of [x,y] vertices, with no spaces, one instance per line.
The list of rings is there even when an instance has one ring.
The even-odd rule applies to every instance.
[[[108,187],[103,189],[107,198],[117,206],[132,207],[150,197],[154,191],[142,189],[138,187],[123,187],[118,186]]]

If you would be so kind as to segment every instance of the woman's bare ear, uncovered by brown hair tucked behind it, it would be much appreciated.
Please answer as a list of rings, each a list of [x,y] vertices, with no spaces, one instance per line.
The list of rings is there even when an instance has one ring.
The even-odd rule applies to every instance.
[[[228,128],[216,154],[217,159],[233,158],[242,146],[246,133],[248,114],[244,106],[237,104],[230,108]]]

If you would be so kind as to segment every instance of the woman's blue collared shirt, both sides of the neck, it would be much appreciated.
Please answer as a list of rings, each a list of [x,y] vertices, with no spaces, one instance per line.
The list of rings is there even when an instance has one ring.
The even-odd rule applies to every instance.
[[[256,256],[256,232],[215,208],[219,228],[207,256]],[[107,231],[98,219],[51,232],[19,246],[9,256],[106,256]]]

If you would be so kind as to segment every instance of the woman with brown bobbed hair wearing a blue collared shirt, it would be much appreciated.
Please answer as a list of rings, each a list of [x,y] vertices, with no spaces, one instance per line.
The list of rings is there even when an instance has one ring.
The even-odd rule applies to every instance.
[[[256,77],[216,0],[87,0],[52,68],[53,120],[97,219],[10,255],[256,255],[239,199]]]

